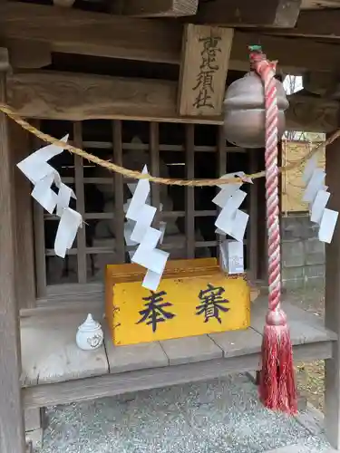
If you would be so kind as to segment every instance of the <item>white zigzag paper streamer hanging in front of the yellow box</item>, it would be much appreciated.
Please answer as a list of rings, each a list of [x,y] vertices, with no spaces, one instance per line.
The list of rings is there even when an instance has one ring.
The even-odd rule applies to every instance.
[[[142,173],[148,173],[146,166]],[[164,236],[164,231],[151,227],[157,208],[148,204],[151,190],[149,180],[140,179],[135,188],[131,187],[130,190],[133,196],[129,200],[129,206],[126,206],[126,218],[128,225],[133,222],[133,228],[131,223],[130,226],[125,226],[125,241],[128,246],[139,244],[137,250],[131,254],[131,261],[148,269],[142,286],[156,291],[170,254],[156,248]]]

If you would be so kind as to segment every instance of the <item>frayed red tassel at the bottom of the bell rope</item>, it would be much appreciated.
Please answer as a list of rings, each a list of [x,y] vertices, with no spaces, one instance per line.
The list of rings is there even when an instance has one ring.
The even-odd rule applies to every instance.
[[[259,396],[268,409],[289,414],[297,412],[292,343],[286,314],[281,310],[267,314],[262,340]]]

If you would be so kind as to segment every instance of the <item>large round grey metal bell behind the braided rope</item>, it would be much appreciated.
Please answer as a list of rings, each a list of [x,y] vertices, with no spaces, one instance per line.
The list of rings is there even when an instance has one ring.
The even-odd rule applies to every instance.
[[[242,148],[263,148],[266,134],[264,86],[255,72],[229,85],[224,106],[226,140]],[[285,132],[285,111],[289,106],[286,92],[277,81],[278,140]]]

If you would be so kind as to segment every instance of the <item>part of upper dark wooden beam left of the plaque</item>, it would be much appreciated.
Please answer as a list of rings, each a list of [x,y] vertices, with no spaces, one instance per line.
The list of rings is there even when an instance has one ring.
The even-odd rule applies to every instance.
[[[0,17],[7,39],[44,41],[53,52],[180,63],[182,24],[15,2]]]

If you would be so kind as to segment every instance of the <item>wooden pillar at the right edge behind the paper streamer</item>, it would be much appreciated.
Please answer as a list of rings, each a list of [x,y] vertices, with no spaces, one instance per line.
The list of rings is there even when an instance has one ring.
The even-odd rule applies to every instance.
[[[340,211],[340,141],[325,149],[326,185],[331,197],[327,207]],[[325,245],[325,327],[340,337],[340,224],[332,244]],[[325,361],[325,432],[334,448],[340,449],[340,348],[334,342],[333,356]]]

